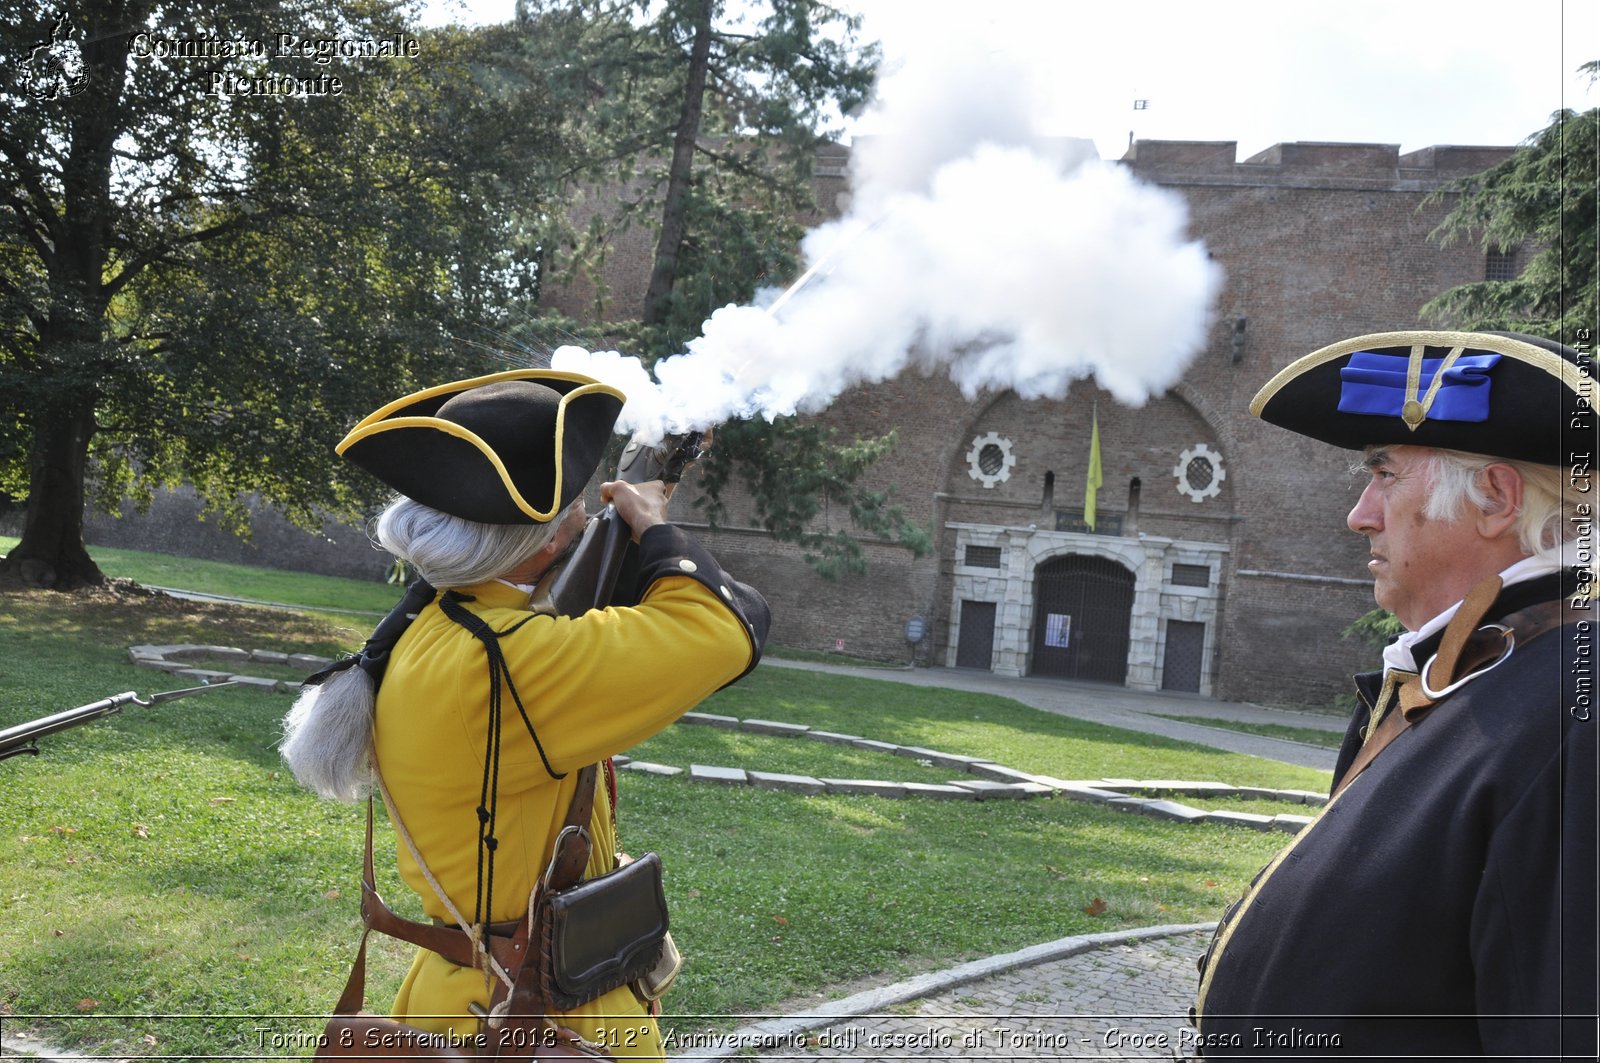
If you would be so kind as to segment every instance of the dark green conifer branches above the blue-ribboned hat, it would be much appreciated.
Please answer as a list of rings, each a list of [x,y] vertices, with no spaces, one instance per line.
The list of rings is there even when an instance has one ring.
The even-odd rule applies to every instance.
[[[1600,78],[1600,61],[1586,62]],[[1595,184],[1600,109],[1558,110],[1506,162],[1461,178],[1430,197],[1458,195],[1434,231],[1445,245],[1477,235],[1485,250],[1534,248],[1514,280],[1459,285],[1430,299],[1424,315],[1466,328],[1493,328],[1573,343],[1597,327]]]

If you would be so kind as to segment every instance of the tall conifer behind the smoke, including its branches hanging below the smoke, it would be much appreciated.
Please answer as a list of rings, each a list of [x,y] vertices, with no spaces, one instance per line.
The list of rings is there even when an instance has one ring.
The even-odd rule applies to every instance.
[[[616,234],[651,224],[656,251],[637,322],[584,328],[549,319],[510,325],[528,346],[562,341],[618,344],[646,362],[675,354],[728,303],[798,272],[803,219],[818,216],[811,163],[829,117],[859,107],[872,86],[877,48],[856,45],[859,19],[818,0],[766,0],[733,16],[722,0],[645,5],[608,0],[522,0],[530,48],[555,64],[571,138],[582,147],[574,181],[614,200],[573,234],[568,269],[602,256]],[[605,189],[600,192],[598,189]],[[762,525],[800,544],[835,576],[861,572],[861,544],[819,532],[840,512],[858,532],[914,554],[931,538],[862,483],[894,432],[838,442],[800,418],[722,426],[698,483],[707,519],[725,515],[739,482]]]

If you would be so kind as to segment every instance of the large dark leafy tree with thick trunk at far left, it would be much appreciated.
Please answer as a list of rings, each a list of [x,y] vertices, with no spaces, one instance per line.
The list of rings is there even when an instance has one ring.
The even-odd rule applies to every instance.
[[[61,50],[0,74],[0,495],[27,499],[6,575],[101,578],[91,471],[101,501],[189,479],[235,519],[243,493],[349,509],[339,434],[478,368],[451,333],[531,283],[502,205],[536,208],[560,165],[541,72],[506,30],[386,58],[395,0],[98,0],[70,30],[3,8]],[[285,32],[310,43],[285,56]]]

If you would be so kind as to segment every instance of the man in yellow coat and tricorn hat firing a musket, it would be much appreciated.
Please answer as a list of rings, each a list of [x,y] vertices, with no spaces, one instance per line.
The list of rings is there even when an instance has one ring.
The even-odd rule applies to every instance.
[[[354,668],[309,688],[283,754],[325,796],[382,788],[400,874],[442,925],[507,933],[526,916],[579,770],[597,762],[606,770],[584,877],[611,871],[608,759],[760,660],[765,600],[667,522],[659,482],[600,488],[637,544],[637,604],[581,616],[530,608],[534,583],[586,525],[582,490],[621,403],[573,373],[518,370],[406,395],[339,443],[400,491],[376,538],[422,581]],[[419,949],[394,1015],[475,1034],[494,978],[488,964]],[[554,1018],[618,1057],[659,1058],[651,1012],[624,985]]]

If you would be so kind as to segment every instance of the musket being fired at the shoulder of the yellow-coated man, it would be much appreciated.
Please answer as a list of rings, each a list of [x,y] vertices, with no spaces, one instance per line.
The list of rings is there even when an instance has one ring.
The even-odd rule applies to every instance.
[[[669,435],[654,447],[630,440],[618,459],[616,479],[626,483],[661,480],[670,487],[710,450],[710,439],[712,429]],[[632,532],[616,506],[602,509],[590,517],[566,559],[552,565],[534,586],[528,608],[554,616],[582,616],[610,605],[630,538]]]

